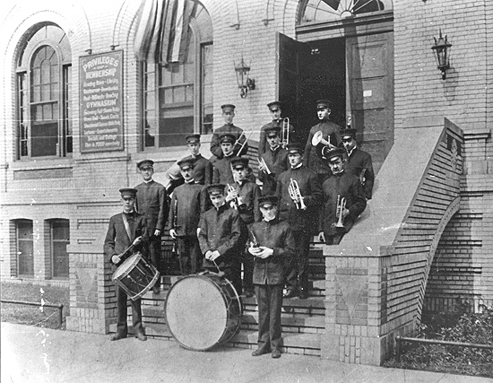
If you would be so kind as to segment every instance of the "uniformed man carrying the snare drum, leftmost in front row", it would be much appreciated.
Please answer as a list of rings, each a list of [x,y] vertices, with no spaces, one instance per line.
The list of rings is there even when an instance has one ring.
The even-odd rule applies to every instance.
[[[145,242],[148,240],[147,220],[143,214],[135,211],[135,195],[137,190],[125,187],[120,189],[123,205],[123,213],[113,215],[109,219],[108,232],[104,241],[104,252],[110,257],[115,265],[121,265],[125,260],[125,250],[134,246],[135,251],[140,251],[145,257]],[[110,336],[111,341],[125,338],[128,333],[126,324],[126,300],[125,290],[115,286],[117,291],[117,333]],[[131,300],[132,304],[132,326],[134,327],[135,337],[145,341],[141,300]]]

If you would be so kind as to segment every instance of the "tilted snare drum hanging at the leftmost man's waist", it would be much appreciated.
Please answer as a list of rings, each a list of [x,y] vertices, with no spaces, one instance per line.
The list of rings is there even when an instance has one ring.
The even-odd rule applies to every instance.
[[[111,278],[131,300],[138,300],[160,277],[160,272],[137,252],[119,265]]]

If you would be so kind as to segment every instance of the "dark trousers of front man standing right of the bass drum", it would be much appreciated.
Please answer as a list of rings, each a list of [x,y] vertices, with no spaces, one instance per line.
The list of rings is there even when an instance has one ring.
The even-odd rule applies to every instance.
[[[255,284],[258,304],[258,348],[279,349],[281,343],[282,284]]]

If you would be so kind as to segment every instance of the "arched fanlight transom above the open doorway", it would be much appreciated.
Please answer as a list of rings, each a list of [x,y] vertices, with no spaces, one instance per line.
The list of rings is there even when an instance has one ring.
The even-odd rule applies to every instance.
[[[393,9],[392,0],[304,0],[299,23],[333,22],[362,13]]]

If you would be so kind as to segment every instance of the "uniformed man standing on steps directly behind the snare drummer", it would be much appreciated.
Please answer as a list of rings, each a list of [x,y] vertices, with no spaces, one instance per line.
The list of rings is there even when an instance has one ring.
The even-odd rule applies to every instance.
[[[149,257],[151,264],[154,265],[162,274],[164,274],[164,265],[161,252],[161,235],[166,226],[166,220],[169,213],[169,199],[166,188],[159,182],[152,179],[154,174],[154,161],[143,160],[137,163],[143,177],[143,183],[137,185],[136,209],[143,213],[147,219],[149,230]],[[152,287],[152,292],[160,292],[160,278]]]

